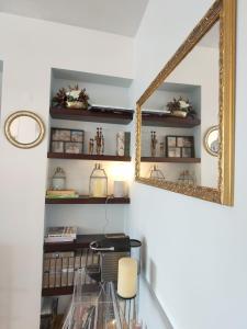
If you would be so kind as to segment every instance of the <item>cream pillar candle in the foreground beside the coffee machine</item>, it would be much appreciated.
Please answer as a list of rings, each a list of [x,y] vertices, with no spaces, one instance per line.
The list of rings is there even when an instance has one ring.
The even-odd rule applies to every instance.
[[[117,295],[133,298],[137,293],[137,261],[134,258],[121,258],[119,261]]]

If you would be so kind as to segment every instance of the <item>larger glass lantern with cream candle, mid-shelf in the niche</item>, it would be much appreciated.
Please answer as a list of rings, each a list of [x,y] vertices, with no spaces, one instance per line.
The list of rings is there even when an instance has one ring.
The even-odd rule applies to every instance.
[[[106,197],[108,196],[108,175],[100,163],[96,163],[90,175],[89,182],[90,197]]]

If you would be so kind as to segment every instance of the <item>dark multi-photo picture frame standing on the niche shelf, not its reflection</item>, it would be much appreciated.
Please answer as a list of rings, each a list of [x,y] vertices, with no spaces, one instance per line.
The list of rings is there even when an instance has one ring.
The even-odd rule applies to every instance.
[[[85,131],[50,128],[49,149],[56,154],[83,154]]]

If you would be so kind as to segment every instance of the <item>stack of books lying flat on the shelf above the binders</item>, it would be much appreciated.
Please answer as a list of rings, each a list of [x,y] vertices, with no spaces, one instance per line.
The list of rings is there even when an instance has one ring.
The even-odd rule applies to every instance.
[[[71,242],[77,238],[77,227],[56,226],[48,227],[45,242]]]

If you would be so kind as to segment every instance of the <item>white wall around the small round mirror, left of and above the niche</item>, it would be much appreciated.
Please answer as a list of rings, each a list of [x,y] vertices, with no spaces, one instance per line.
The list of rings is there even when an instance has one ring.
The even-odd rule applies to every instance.
[[[30,109],[48,126],[52,67],[133,78],[133,42],[3,13],[0,39],[0,59],[4,63],[0,133],[0,258],[4,270],[0,273],[0,328],[36,329],[48,134],[38,147],[18,149],[4,138],[3,122],[12,112]],[[102,212],[99,208],[103,217]],[[87,217],[86,207],[80,213]]]

